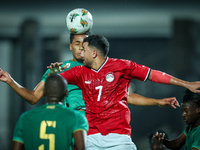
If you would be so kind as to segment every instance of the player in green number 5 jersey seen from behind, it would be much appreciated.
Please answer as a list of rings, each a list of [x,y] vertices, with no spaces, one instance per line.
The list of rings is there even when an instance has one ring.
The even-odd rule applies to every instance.
[[[46,104],[23,113],[13,134],[13,150],[69,149],[72,137],[77,150],[85,150],[88,122],[79,111],[63,105],[67,82],[51,75],[45,82]]]

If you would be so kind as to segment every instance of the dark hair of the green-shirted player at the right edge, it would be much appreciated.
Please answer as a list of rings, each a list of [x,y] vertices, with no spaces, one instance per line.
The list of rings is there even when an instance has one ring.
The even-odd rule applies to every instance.
[[[186,89],[185,95],[183,96],[183,103],[186,102],[194,102],[198,107],[200,107],[200,93],[193,93]]]

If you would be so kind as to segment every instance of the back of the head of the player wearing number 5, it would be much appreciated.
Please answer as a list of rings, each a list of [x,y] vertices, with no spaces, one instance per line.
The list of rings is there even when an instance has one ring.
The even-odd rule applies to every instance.
[[[45,82],[45,96],[61,100],[67,91],[67,80],[57,74],[47,77]]]

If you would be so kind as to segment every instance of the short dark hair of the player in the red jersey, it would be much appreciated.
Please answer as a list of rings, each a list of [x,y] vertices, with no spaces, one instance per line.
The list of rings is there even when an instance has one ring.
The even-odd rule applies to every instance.
[[[98,34],[89,35],[83,40],[83,43],[84,42],[88,42],[88,46],[96,47],[98,50],[100,50],[103,56],[108,55],[110,45],[104,36]]]

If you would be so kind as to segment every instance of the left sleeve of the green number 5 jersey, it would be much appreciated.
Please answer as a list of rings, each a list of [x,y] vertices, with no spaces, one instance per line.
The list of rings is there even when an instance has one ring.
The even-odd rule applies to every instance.
[[[23,135],[22,135],[23,134],[23,125],[22,125],[23,116],[24,114],[22,114],[17,121],[17,124],[14,129],[14,133],[13,133],[13,139],[12,139],[13,141],[17,141],[20,143],[24,143]]]

